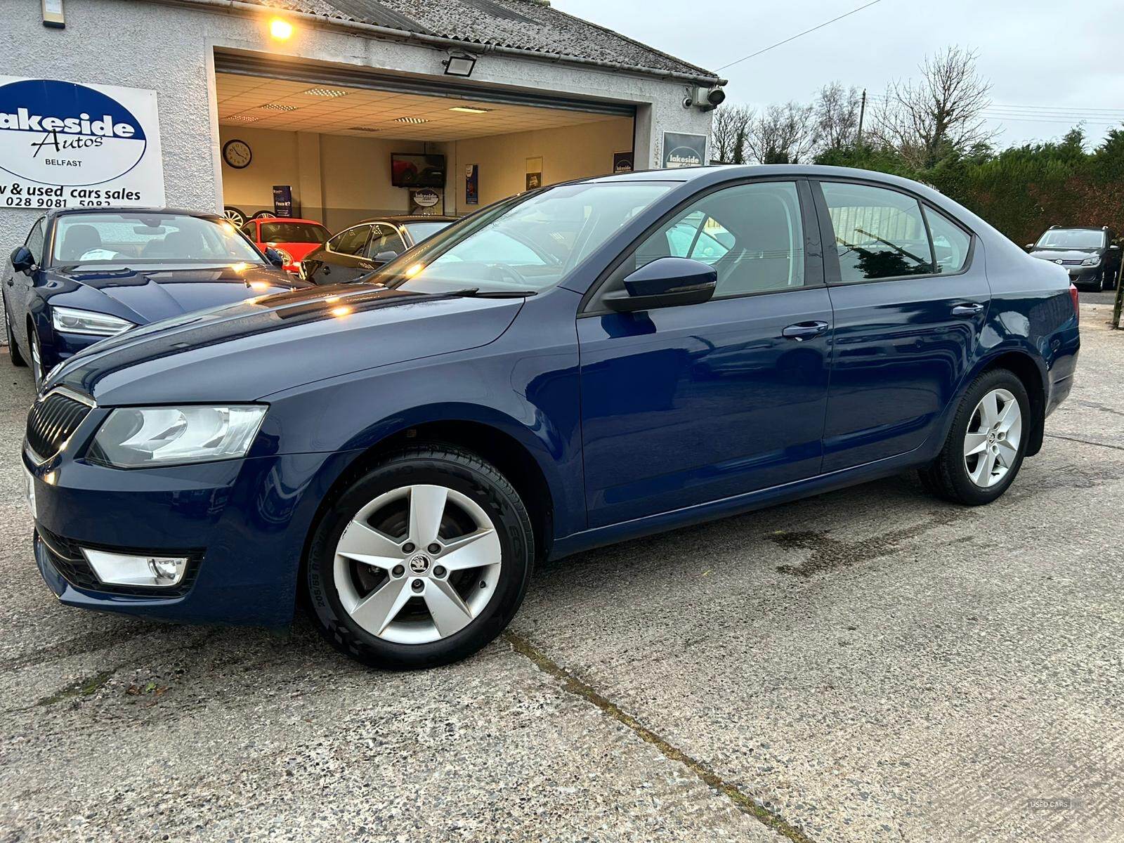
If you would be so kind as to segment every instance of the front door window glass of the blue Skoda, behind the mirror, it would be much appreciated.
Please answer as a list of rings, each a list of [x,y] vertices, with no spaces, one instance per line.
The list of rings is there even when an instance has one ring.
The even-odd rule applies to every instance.
[[[804,284],[804,229],[794,182],[709,193],[658,228],[625,261],[627,274],[660,257],[690,257],[718,273],[715,298]]]

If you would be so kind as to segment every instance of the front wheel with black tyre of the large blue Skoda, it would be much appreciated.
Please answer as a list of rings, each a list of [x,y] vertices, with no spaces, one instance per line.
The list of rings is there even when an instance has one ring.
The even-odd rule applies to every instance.
[[[307,588],[318,626],[375,668],[464,659],[523,602],[534,536],[515,488],[445,445],[388,456],[356,478],[317,525]]]

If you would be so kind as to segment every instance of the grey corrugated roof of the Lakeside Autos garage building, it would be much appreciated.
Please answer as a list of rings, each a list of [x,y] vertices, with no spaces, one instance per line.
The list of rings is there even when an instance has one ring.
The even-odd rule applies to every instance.
[[[716,79],[717,74],[543,0],[246,0],[259,6],[372,24],[422,35],[610,62],[637,72]]]

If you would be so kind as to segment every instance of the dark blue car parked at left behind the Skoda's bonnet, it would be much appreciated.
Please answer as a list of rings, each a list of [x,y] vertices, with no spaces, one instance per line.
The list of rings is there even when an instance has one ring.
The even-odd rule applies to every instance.
[[[166,208],[67,208],[35,220],[4,268],[11,362],[35,383],[99,339],[190,310],[308,287],[228,220]]]

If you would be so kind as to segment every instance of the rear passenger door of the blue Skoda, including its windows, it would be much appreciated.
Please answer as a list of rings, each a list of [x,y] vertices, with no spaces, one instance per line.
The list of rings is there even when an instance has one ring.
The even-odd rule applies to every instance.
[[[842,180],[814,188],[835,314],[826,473],[933,435],[970,365],[990,289],[971,233],[912,193]]]

